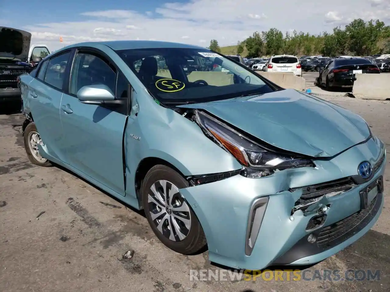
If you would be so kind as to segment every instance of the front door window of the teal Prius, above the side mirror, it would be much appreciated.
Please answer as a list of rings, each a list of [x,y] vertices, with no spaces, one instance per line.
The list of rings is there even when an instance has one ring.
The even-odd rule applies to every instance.
[[[115,69],[106,60],[88,53],[77,53],[71,73],[69,92],[77,95],[83,86],[104,84],[115,95]]]

